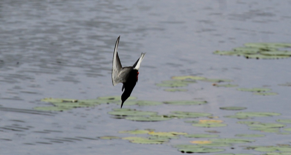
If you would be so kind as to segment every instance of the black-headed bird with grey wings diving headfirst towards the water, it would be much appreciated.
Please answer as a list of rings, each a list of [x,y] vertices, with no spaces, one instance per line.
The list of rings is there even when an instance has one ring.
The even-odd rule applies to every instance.
[[[116,86],[118,83],[123,83],[121,91],[124,92],[121,95],[121,108],[123,106],[123,103],[125,100],[130,96],[134,86],[137,83],[138,75],[139,75],[139,66],[141,64],[141,61],[143,60],[143,57],[145,56],[145,53],[141,53],[141,56],[139,59],[134,63],[132,67],[122,67],[118,53],[117,53],[117,47],[119,43],[119,38],[116,40],[114,53],[113,53],[113,61],[112,61],[112,84],[113,86]]]

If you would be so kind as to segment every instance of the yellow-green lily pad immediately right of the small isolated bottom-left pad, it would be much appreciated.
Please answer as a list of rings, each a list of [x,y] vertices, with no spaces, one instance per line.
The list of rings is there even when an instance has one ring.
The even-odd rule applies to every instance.
[[[148,139],[144,137],[124,137],[122,139],[129,140],[129,142],[131,143],[138,144],[163,144],[168,142],[168,140],[166,139]]]

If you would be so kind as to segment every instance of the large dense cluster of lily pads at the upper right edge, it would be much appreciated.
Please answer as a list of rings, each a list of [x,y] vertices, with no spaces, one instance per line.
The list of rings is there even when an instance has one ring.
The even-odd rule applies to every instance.
[[[291,51],[279,50],[290,48],[291,43],[245,43],[244,47],[236,47],[231,51],[214,51],[214,54],[228,56],[244,56],[247,59],[281,59],[289,58]]]

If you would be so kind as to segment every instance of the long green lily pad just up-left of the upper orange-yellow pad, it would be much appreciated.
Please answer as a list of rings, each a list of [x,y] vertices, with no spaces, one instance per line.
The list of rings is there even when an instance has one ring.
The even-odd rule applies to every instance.
[[[184,111],[172,111],[172,114],[169,115],[169,117],[173,118],[197,118],[197,117],[207,117],[212,116],[210,113],[204,113],[204,112],[184,112]]]

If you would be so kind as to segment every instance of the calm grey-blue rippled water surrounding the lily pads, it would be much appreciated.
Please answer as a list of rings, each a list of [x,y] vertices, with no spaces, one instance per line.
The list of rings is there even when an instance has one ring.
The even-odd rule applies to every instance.
[[[146,128],[187,133],[212,130],[177,119],[150,123],[113,119],[107,112],[120,107],[115,104],[66,112],[32,110],[50,106],[40,102],[45,97],[121,95],[122,84],[113,87],[111,81],[113,50],[119,35],[118,54],[123,66],[132,65],[141,52],[147,53],[132,96],[155,101],[202,98],[209,102],[193,107],[130,108],[159,114],[174,110],[209,112],[228,124],[227,128],[213,128],[221,132],[221,138],[233,138],[240,132],[260,134],[236,124],[236,119],[223,118],[236,111],[219,110],[222,106],[282,113],[255,119],[265,123],[291,119],[291,88],[278,86],[291,82],[290,58],[247,60],[212,54],[248,42],[290,43],[290,6],[290,1],[275,0],[0,1],[1,154],[180,154],[171,145],[189,143],[189,139],[143,145],[97,137],[122,136],[118,131]],[[205,82],[190,85],[183,93],[169,93],[155,86],[177,75],[228,78],[239,87],[268,86],[278,95],[254,96]],[[290,135],[263,134],[267,136],[252,145],[290,143]],[[238,146],[234,150],[226,147],[223,153],[261,153]]]

